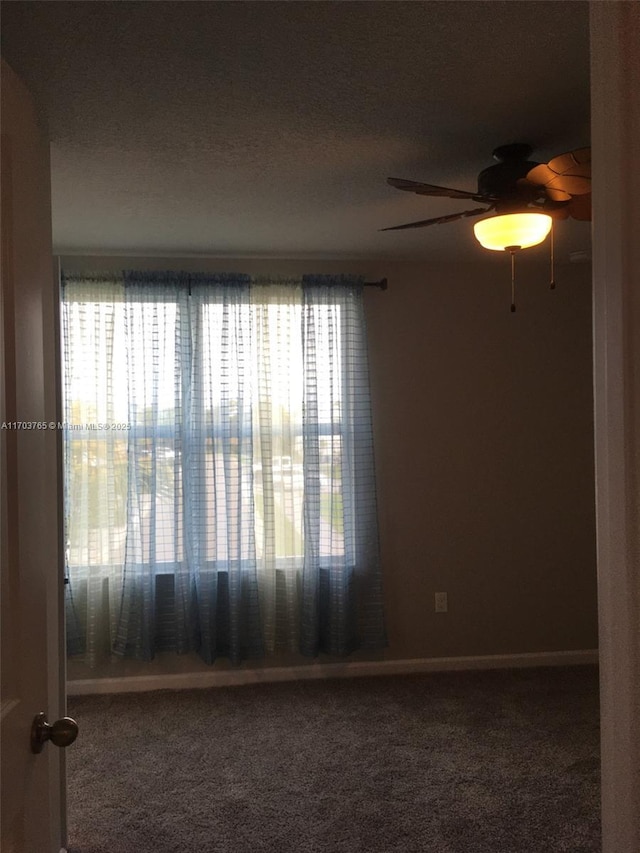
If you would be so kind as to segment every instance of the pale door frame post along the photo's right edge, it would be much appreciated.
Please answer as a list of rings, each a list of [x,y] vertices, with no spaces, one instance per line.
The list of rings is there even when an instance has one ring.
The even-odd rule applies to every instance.
[[[640,3],[591,2],[604,853],[640,850]]]

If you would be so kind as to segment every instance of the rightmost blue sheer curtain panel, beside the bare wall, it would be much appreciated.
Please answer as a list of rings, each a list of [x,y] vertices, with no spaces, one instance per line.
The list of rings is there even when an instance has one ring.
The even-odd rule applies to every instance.
[[[347,654],[383,634],[363,288],[306,276],[303,294],[300,644],[304,654]]]

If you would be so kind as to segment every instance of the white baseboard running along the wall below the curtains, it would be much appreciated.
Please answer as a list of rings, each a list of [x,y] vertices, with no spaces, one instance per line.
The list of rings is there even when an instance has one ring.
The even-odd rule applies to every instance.
[[[354,678],[365,675],[411,675],[470,669],[520,669],[534,666],[576,666],[598,662],[597,649],[566,652],[533,652],[517,655],[415,658],[408,660],[312,663],[264,669],[231,669],[142,675],[122,678],[86,678],[67,682],[69,696],[92,693],[141,693],[147,690],[186,690],[198,687],[229,687],[274,681],[302,681],[319,678]]]

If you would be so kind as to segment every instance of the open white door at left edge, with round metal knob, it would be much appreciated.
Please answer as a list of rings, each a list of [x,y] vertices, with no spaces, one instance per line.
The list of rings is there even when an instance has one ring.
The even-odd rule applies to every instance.
[[[48,143],[2,63],[0,504],[1,847],[64,846],[63,750],[31,749],[34,717],[63,715],[57,293]],[[50,427],[51,424],[51,427]]]

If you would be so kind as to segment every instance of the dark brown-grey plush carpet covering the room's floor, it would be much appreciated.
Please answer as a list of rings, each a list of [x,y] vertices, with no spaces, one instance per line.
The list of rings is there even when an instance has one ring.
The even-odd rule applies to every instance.
[[[70,853],[600,850],[595,668],[75,697]]]

